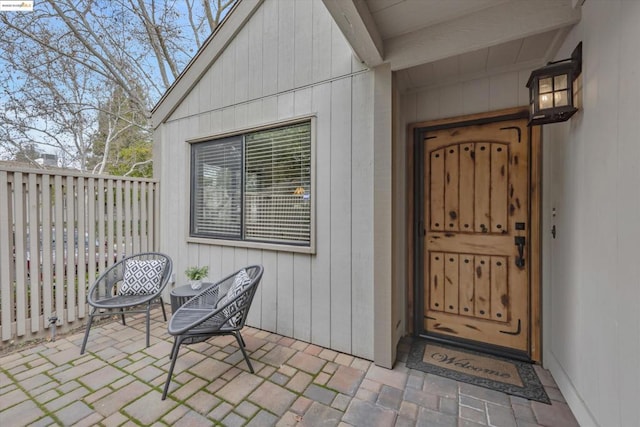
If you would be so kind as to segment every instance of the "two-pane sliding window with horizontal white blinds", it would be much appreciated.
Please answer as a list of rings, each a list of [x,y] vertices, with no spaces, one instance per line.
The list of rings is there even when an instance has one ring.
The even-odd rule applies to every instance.
[[[311,123],[192,145],[191,235],[309,246]]]

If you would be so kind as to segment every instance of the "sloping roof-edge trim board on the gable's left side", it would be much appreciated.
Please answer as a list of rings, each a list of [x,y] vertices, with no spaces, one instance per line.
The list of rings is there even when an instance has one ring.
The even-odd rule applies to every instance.
[[[151,110],[154,129],[169,118],[263,2],[238,0]]]

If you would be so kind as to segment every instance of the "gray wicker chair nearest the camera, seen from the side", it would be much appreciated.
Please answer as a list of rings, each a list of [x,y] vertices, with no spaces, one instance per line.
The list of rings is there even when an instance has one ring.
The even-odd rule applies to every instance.
[[[243,276],[246,278],[244,282],[239,279],[243,271],[246,272],[246,276]],[[162,400],[167,397],[173,368],[182,344],[200,342],[219,335],[233,335],[249,370],[251,373],[254,372],[244,349],[246,344],[240,330],[244,327],[263,271],[261,265],[252,265],[236,271],[189,299],[173,313],[169,321],[169,333],[175,337],[175,341],[169,355],[171,366]]]

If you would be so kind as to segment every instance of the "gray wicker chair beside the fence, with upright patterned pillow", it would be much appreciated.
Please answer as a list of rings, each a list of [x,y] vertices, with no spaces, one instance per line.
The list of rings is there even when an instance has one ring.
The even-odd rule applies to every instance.
[[[80,354],[84,354],[93,318],[114,314],[119,314],[125,325],[125,314],[146,313],[149,347],[151,304],[160,304],[164,320],[167,321],[161,293],[169,282],[171,270],[171,258],[158,252],[147,252],[126,257],[102,273],[87,295],[91,312]]]

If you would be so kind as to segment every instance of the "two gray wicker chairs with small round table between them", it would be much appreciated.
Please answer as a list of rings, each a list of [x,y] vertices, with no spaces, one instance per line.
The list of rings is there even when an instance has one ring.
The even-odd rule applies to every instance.
[[[160,304],[164,320],[167,320],[162,291],[169,283],[171,271],[171,258],[162,253],[147,252],[126,257],[100,275],[87,296],[91,311],[80,354],[85,352],[94,317],[100,316],[119,315],[125,325],[125,314],[146,313],[146,346],[149,347],[151,306]],[[185,287],[172,291],[173,313],[168,332],[174,336],[174,343],[169,354],[171,366],[162,400],[167,397],[178,352],[183,344],[193,344],[220,335],[233,335],[249,370],[254,372],[240,331],[244,327],[262,273],[261,265],[251,265],[216,283],[208,283],[197,291],[190,291]]]

